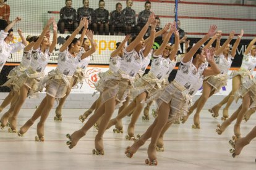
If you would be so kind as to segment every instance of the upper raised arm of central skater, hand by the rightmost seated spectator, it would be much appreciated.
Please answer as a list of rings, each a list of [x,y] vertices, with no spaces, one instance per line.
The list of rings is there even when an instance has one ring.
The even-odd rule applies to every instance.
[[[126,47],[126,51],[130,52],[132,51],[139,43],[140,40],[142,40],[144,34],[147,32],[148,30],[148,26],[150,25],[150,23],[155,19],[155,16],[153,14],[153,12],[151,13],[150,17],[148,18],[148,22],[143,26],[142,30],[140,31],[140,33],[137,35],[137,37],[134,39],[134,41],[130,42],[129,46]]]

